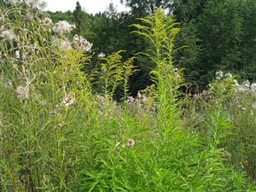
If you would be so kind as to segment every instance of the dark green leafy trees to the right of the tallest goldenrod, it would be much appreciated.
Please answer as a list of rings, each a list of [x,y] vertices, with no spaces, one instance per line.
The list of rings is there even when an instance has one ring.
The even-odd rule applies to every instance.
[[[201,89],[220,68],[254,79],[254,8],[255,1],[173,1],[173,13],[183,24],[177,45],[185,46],[175,57],[188,69],[186,79]]]

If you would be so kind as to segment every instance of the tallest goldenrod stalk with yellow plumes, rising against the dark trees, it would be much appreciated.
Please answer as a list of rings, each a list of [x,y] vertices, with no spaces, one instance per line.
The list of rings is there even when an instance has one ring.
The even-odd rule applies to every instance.
[[[175,71],[172,59],[174,39],[179,29],[173,18],[166,17],[161,9],[157,9],[151,17],[140,20],[143,25],[133,26],[138,29],[135,31],[137,34],[148,38],[152,44],[152,49],[145,55],[154,62],[152,79],[157,85],[160,122],[165,122],[167,119],[175,119],[177,92],[183,82],[182,74]],[[170,118],[169,113],[174,117]]]

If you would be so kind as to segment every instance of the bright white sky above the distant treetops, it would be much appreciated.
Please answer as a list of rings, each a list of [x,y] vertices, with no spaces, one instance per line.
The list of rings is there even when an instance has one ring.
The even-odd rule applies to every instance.
[[[47,2],[47,10],[50,11],[67,11],[75,9],[78,0],[44,0]],[[82,8],[89,14],[96,14],[108,8],[109,3],[119,11],[125,10],[125,5],[119,3],[119,0],[79,0]]]

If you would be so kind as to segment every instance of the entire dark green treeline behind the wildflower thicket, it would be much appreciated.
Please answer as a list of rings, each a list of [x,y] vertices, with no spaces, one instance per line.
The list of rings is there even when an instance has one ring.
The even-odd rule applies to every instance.
[[[110,4],[104,13],[89,15],[80,4],[71,12],[49,12],[51,18],[78,26],[74,33],[94,44],[95,55],[125,49],[125,56],[148,49],[143,38],[131,32],[137,18],[150,15],[157,7],[175,15],[182,31],[177,36],[175,61],[183,68],[193,91],[202,90],[218,69],[235,73],[240,79],[256,78],[256,1],[255,0],[121,0],[130,11],[117,12]],[[131,79],[131,92],[151,84],[152,63],[141,57],[139,72]],[[238,78],[238,79],[239,79]]]

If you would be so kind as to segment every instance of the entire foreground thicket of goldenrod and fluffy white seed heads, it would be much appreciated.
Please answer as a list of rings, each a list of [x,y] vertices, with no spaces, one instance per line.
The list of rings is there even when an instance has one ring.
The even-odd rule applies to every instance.
[[[154,85],[137,98],[134,58],[101,54],[91,67],[91,44],[69,41],[73,26],[53,26],[37,4],[0,13],[1,191],[256,190],[253,85],[218,74],[205,93],[182,95],[179,29],[162,9],[134,25],[154,62]]]

